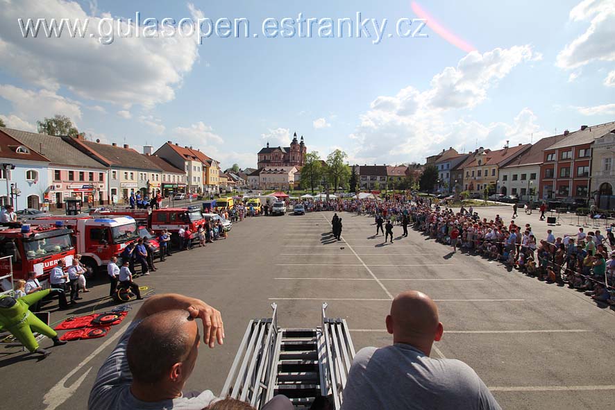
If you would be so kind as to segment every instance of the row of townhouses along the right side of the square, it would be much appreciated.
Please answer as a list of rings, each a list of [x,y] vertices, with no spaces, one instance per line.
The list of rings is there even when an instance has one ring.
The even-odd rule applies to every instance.
[[[521,200],[593,199],[615,205],[615,122],[540,139],[535,144],[483,147],[471,153],[448,148],[427,157],[438,171],[435,190],[516,195]]]

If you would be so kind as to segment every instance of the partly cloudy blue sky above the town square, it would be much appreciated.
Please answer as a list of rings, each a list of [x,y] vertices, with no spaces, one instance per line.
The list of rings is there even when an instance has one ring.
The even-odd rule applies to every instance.
[[[27,19],[51,18],[89,18],[87,34],[24,37]],[[225,18],[248,36],[239,23],[224,37]],[[183,35],[165,19],[185,19]],[[401,164],[615,121],[615,0],[0,0],[0,53],[8,126],[63,114],[90,139],[177,142],[224,168],[255,167],[295,132],[323,158]]]

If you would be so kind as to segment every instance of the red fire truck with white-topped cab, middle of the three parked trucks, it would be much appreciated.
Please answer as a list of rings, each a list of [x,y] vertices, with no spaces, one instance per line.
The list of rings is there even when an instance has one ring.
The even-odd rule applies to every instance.
[[[44,216],[29,219],[31,225],[65,226],[74,231],[81,263],[94,273],[119,256],[129,242],[139,238],[137,222],[131,216],[94,218],[90,215]]]

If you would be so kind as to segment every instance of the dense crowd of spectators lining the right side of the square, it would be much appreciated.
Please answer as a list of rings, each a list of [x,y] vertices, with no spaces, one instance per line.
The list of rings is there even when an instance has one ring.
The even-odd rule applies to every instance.
[[[585,291],[594,300],[615,305],[615,241],[612,230],[607,237],[600,230],[555,237],[551,230],[544,238],[532,230],[530,223],[506,223],[480,218],[478,212],[433,207],[422,198],[410,206],[414,227],[443,244],[460,244],[473,255],[499,260],[510,270],[516,269],[539,280],[567,284]],[[453,246],[455,252],[456,246]]]

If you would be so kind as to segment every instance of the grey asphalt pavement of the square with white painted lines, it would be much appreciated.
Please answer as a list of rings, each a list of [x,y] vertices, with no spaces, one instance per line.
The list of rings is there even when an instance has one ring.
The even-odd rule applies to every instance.
[[[417,289],[436,300],[444,323],[432,356],[472,366],[504,409],[602,410],[615,402],[615,311],[497,262],[452,254],[419,232],[401,238],[396,226],[394,243],[384,244],[367,216],[340,215],[342,241],[329,233],[332,212],[260,216],[236,223],[228,239],[175,253],[151,276],[137,277],[149,294],[202,298],[223,314],[225,343],[213,350],[201,345],[187,391],[220,393],[248,321],[270,316],[272,302],[282,327],[316,327],[321,303],[328,302],[328,316],[346,318],[358,350],[391,343],[385,331],[391,298]],[[92,292],[76,309],[53,311],[51,321],[113,307],[104,277],[88,287]],[[44,361],[1,348],[0,368],[10,375],[1,407],[85,408],[96,371],[140,302],[130,305],[126,321],[108,336],[51,348]]]

